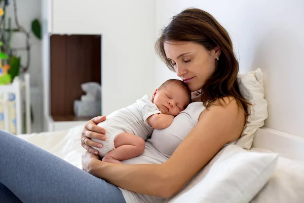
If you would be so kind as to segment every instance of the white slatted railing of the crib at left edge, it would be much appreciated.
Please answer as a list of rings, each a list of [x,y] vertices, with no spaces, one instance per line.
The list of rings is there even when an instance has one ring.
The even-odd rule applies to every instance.
[[[29,74],[24,75],[24,81],[21,81],[19,77],[15,77],[12,84],[0,85],[0,94],[3,95],[4,105],[4,123],[6,131],[9,130],[9,96],[15,95],[15,112],[16,112],[16,134],[23,133],[23,127],[26,127],[25,133],[31,132],[31,116],[30,116],[30,77]],[[25,103],[23,103],[25,101]],[[23,107],[23,104],[25,106]],[[23,108],[25,108],[23,111]],[[23,112],[25,112],[25,124],[23,122]],[[25,126],[24,126],[25,125]]]

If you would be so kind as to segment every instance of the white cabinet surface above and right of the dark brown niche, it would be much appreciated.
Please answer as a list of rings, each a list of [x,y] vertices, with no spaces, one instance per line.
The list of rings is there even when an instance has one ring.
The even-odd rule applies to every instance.
[[[52,33],[102,35],[103,115],[153,93],[156,1],[53,0],[52,10]]]

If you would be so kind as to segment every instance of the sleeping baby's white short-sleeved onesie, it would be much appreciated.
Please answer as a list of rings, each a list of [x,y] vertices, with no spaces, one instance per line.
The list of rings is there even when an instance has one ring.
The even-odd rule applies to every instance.
[[[104,157],[115,149],[114,141],[122,132],[129,132],[147,140],[154,130],[148,124],[147,118],[159,113],[161,112],[156,104],[152,103],[148,95],[144,95],[141,99],[137,99],[136,103],[109,114],[105,121],[98,124],[106,130],[107,140],[92,139],[102,144],[102,148],[93,148],[99,151],[99,156]]]

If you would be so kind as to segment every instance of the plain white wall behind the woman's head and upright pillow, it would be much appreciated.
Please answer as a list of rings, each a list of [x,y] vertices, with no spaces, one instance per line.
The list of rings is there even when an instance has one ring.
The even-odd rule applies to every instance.
[[[304,137],[304,1],[158,0],[156,30],[188,7],[206,10],[229,31],[241,73],[263,71],[269,101],[265,126]],[[156,85],[176,77],[159,60],[156,74]]]

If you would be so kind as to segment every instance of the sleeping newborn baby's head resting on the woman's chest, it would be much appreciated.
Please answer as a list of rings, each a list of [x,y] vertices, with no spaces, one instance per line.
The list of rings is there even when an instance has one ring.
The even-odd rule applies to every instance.
[[[152,101],[163,114],[177,116],[191,103],[191,92],[183,81],[170,79],[155,90]]]

